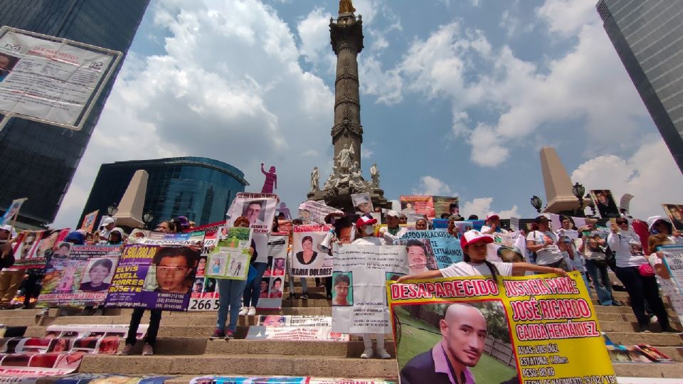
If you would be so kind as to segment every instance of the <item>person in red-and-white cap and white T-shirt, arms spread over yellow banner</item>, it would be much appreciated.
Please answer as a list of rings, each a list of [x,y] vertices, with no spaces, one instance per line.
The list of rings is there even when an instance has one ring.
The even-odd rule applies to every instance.
[[[458,276],[492,276],[498,279],[498,275],[512,276],[526,271],[539,273],[556,273],[566,276],[567,272],[560,268],[533,265],[528,262],[489,262],[486,260],[486,245],[493,242],[490,236],[478,230],[468,230],[460,237],[460,246],[465,252],[462,262],[456,262],[440,270],[433,270],[413,275],[402,276],[398,282],[406,282],[412,279],[438,279],[440,277]]]

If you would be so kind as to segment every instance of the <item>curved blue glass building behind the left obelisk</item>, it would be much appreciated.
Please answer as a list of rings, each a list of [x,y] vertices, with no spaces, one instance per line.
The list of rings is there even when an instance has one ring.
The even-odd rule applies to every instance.
[[[178,216],[187,216],[198,225],[225,220],[235,195],[249,185],[239,169],[206,157],[102,164],[80,222],[88,213],[100,210],[99,223],[107,208],[121,200],[138,169],[149,174],[143,212],[149,210],[154,215],[150,225]]]

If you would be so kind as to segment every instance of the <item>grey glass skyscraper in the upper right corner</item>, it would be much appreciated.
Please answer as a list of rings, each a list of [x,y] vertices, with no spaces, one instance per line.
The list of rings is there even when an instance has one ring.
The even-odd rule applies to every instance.
[[[683,1],[601,0],[597,9],[683,172]]]

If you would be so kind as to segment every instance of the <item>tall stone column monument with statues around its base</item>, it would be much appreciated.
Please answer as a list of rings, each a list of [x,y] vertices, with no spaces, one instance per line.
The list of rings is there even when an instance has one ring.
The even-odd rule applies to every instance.
[[[337,55],[334,81],[334,125],[332,146],[334,166],[322,190],[317,183],[317,169],[312,177],[310,200],[324,200],[329,206],[353,212],[351,193],[370,193],[374,206],[388,208],[384,191],[379,188],[379,174],[372,166],[372,181],[365,181],[361,170],[361,102],[359,97],[358,54],[363,50],[363,20],[356,15],[351,0],[339,1],[337,20],[330,18],[329,35]]]

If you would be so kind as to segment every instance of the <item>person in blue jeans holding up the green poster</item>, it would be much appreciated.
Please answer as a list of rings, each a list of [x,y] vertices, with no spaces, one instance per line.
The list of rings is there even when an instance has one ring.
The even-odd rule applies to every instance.
[[[249,219],[245,216],[240,216],[235,219],[233,226],[235,226],[235,228],[249,228]],[[250,255],[253,255],[254,251],[254,248],[250,247]],[[246,284],[246,280],[218,279],[218,299],[220,302],[218,304],[216,329],[211,335],[212,340],[216,338],[225,338],[226,340],[235,338],[237,320],[240,315],[240,302],[243,298]],[[230,321],[228,323],[228,329],[226,329],[228,311],[230,314]]]

